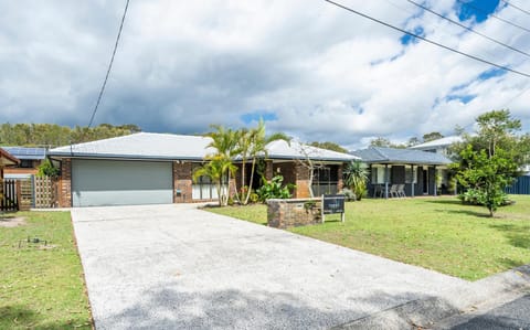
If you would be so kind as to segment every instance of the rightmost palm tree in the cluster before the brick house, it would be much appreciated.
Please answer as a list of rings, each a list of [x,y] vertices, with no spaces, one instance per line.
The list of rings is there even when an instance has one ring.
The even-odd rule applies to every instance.
[[[256,128],[250,130],[242,130],[241,139],[244,140],[241,145],[241,158],[242,158],[242,171],[245,173],[245,164],[248,159],[252,159],[251,178],[248,182],[248,189],[246,195],[243,198],[243,204],[248,204],[251,196],[252,184],[254,181],[254,172],[256,170],[256,162],[261,157],[267,158],[267,145],[272,141],[284,140],[289,142],[290,138],[283,132],[276,132],[271,136],[266,136],[265,121],[259,119]],[[244,178],[244,177],[243,177]],[[243,182],[245,182],[243,180]]]

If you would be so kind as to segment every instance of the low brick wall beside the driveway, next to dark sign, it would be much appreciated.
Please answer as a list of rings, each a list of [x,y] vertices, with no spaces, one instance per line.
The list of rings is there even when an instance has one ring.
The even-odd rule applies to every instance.
[[[267,200],[267,224],[271,227],[287,228],[322,222],[322,200],[290,199]]]

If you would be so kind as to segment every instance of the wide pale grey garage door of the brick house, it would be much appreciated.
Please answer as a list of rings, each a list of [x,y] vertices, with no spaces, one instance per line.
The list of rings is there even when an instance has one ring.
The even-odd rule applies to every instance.
[[[73,159],[72,204],[170,204],[172,181],[170,162]]]

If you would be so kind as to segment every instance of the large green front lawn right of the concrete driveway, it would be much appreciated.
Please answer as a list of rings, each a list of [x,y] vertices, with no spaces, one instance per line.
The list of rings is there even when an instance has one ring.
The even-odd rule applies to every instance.
[[[319,225],[290,232],[476,280],[530,264],[530,196],[487,217],[486,207],[455,198],[349,202],[346,222],[327,216]],[[266,224],[266,206],[234,206],[216,213]]]

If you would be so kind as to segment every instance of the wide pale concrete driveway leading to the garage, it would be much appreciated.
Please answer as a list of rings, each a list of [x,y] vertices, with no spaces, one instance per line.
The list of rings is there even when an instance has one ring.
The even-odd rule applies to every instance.
[[[319,329],[468,285],[193,205],[73,209],[96,329]]]

